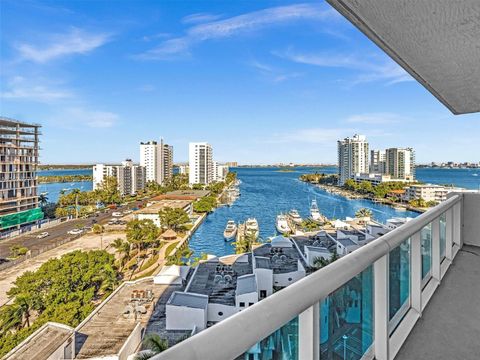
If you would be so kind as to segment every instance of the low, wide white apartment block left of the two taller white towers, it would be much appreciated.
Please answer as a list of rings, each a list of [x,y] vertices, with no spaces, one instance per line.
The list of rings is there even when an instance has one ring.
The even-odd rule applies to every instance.
[[[106,177],[115,177],[122,195],[135,195],[145,188],[145,168],[127,159],[122,165],[97,164],[93,167],[93,189],[99,189]]]

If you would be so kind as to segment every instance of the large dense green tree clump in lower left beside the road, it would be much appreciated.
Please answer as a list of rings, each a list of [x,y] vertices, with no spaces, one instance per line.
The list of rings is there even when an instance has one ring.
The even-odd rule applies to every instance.
[[[47,321],[78,325],[116,286],[114,260],[77,250],[20,275],[7,293],[13,303],[0,310],[0,357]]]

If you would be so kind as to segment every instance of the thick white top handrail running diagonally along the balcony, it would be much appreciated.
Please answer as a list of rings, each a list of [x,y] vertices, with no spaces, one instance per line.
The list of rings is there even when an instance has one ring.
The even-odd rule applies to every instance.
[[[452,196],[401,227],[152,359],[235,359],[360,274],[461,200],[461,195]]]

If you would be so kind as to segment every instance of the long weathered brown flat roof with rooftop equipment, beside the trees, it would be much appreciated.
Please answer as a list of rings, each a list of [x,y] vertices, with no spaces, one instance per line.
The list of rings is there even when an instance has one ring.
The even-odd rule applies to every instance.
[[[142,325],[147,324],[153,304],[167,288],[167,285],[154,284],[152,279],[123,283],[101,307],[97,307],[83,324],[77,327],[76,358],[89,359],[117,354],[136,324],[138,322]],[[136,295],[138,291],[147,292],[148,290],[153,292],[152,298],[149,301],[139,302],[146,308],[146,313],[137,313],[136,319],[133,315],[124,315],[126,308],[132,304],[132,297],[140,296]]]

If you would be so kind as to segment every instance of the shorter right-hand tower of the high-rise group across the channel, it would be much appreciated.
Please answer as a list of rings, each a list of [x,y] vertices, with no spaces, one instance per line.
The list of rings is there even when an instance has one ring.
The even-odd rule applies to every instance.
[[[395,179],[415,179],[415,151],[412,148],[385,150],[385,174]]]

